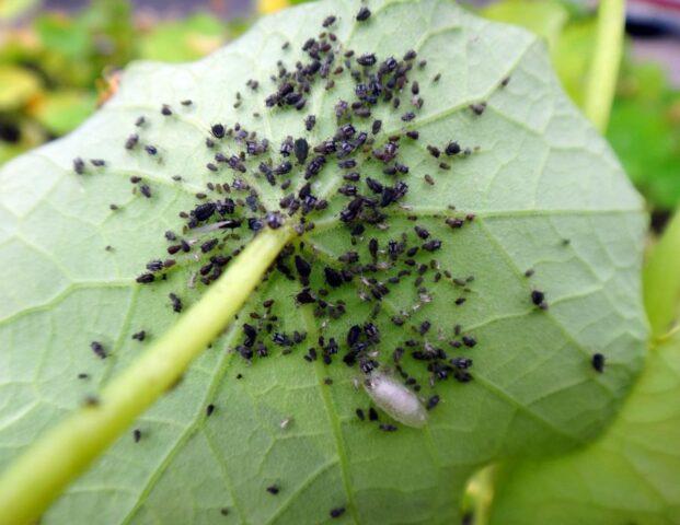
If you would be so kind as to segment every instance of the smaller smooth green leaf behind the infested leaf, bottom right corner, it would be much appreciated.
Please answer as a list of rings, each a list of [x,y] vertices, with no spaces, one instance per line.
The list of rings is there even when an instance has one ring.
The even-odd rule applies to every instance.
[[[680,339],[655,349],[604,436],[498,480],[492,523],[673,525],[680,522]]]

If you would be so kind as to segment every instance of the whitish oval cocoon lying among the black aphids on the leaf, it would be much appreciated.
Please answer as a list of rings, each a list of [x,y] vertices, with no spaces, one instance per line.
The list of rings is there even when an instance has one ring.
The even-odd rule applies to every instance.
[[[415,428],[427,423],[427,411],[418,397],[391,375],[372,372],[364,387],[373,402],[400,423]]]

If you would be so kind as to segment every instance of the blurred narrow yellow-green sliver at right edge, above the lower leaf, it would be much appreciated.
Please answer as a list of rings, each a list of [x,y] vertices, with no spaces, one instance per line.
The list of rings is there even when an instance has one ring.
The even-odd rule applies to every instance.
[[[662,337],[672,329],[680,298],[680,213],[676,213],[649,252],[643,280],[652,335]]]

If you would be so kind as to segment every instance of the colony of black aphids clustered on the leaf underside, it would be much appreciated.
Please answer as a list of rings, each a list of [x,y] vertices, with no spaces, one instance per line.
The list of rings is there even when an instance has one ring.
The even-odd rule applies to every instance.
[[[356,14],[356,23],[366,25],[370,16],[370,10],[364,7]],[[473,378],[473,361],[466,355],[477,345],[472,334],[466,334],[454,322],[450,326],[435,326],[427,319],[414,324],[412,318],[430,303],[446,311],[466,304],[474,276],[454,275],[453,269],[442,266],[437,254],[475,217],[460,214],[450,206],[447,213],[436,218],[441,228],[437,230],[439,234],[435,234],[417,215],[408,213],[404,201],[411,184],[425,180],[428,186],[435,186],[439,176],[454,176],[456,163],[474,154],[475,148],[461,147],[460,138],[454,137],[443,138],[440,143],[423,144],[422,155],[431,164],[431,173],[413,173],[403,160],[402,150],[420,141],[416,128],[418,114],[426,104],[423,84],[439,82],[441,75],[427,74],[427,61],[419,59],[414,50],[407,50],[401,59],[373,52],[357,55],[344,48],[332,32],[336,23],[336,16],[327,16],[321,34],[304,42],[301,57],[291,60],[292,66],[286,66],[283,60],[277,62],[277,70],[269,78],[274,88],[268,94],[262,94],[263,79],[245,82],[249,88],[245,96],[264,97],[267,110],[299,113],[303,135],[287,136],[275,144],[238,122],[219,119],[210,122],[199,147],[210,154],[206,171],[214,180],[207,184],[206,192],[196,194],[197,203],[193,209],[180,212],[184,221],[182,233],[164,233],[166,255],[149,261],[137,281],[151,284],[169,277],[173,267],[199,261],[189,282],[180,283],[168,298],[169,307],[178,313],[183,308],[184,285],[209,285],[253,234],[265,228],[291,225],[299,236],[281,252],[270,272],[296,282],[298,291],[290,298],[267,299],[244,313],[240,327],[242,338],[233,351],[247,362],[275,352],[298,353],[310,363],[321,361],[330,366],[342,362],[356,368],[378,408],[403,424],[423,427],[427,410],[440,402],[436,393],[420,397],[424,376],[428,387],[449,378],[459,383]],[[288,44],[283,46],[283,52],[292,52]],[[313,90],[324,89],[330,97],[336,81],[347,77],[354,85],[351,96],[337,97],[331,105],[331,114],[304,113]],[[499,89],[508,81],[504,80]],[[343,93],[346,95],[346,91]],[[234,107],[241,108],[244,101],[247,102],[244,95],[239,94]],[[185,100],[181,104],[196,103]],[[388,108],[394,115],[390,126],[399,122],[401,130],[385,131],[382,120],[373,117],[378,108]],[[483,118],[486,103],[479,102],[466,110],[473,118]],[[159,112],[164,118],[173,118],[169,102],[161,102]],[[312,140],[322,119],[335,122],[335,131],[325,139]],[[134,124],[137,129],[120,147],[129,154],[159,155],[159,144],[143,140],[143,130],[150,126],[148,117],[140,116]],[[106,164],[103,160],[90,163],[99,167]],[[85,174],[88,170],[82,159],[73,161],[77,174]],[[173,178],[182,179],[181,176]],[[327,179],[333,184],[316,184]],[[155,190],[142,177],[132,176],[130,183],[143,198],[152,198]],[[260,185],[279,189],[276,209],[263,203]],[[329,186],[334,192],[315,192],[315,188]],[[337,260],[324,259],[304,241],[304,233],[315,228],[314,218],[324,211],[327,213],[331,199],[334,203],[342,201],[336,219],[344,225],[348,238],[348,249]],[[118,207],[111,205],[111,209]],[[395,218],[401,218],[401,222]],[[447,235],[441,235],[441,231]],[[528,278],[532,275],[533,270],[526,273]],[[440,281],[458,291],[452,304],[437,302],[436,294],[428,288],[429,283]],[[394,310],[388,305],[385,298],[405,287],[413,290],[412,306]],[[355,318],[355,308],[346,299],[347,290],[351,291],[351,301],[370,306],[368,317],[361,314]],[[549,307],[543,291],[532,290],[523,301],[537,311]],[[310,340],[303,328],[284,331],[280,327],[279,315],[291,307],[311,308],[320,326],[315,340]],[[453,312],[451,316],[454,315]],[[338,319],[349,328],[342,331],[335,328]],[[403,335],[401,345],[387,348],[381,342],[381,330],[387,327]],[[146,331],[132,337],[143,341]],[[105,349],[96,341],[92,342],[92,350],[102,359],[106,357]],[[591,364],[602,372],[604,358],[596,354]],[[418,365],[422,369],[414,373],[412,369]],[[329,378],[326,384],[331,385],[332,381]],[[214,405],[208,405],[206,416],[210,417],[215,409]],[[372,407],[368,418],[361,408],[356,413],[360,420],[379,421]],[[379,423],[379,429],[393,432],[397,427]],[[141,435],[136,431],[135,441]],[[277,494],[279,487],[270,486],[267,491]],[[344,508],[333,509],[331,516],[338,517],[344,511]]]

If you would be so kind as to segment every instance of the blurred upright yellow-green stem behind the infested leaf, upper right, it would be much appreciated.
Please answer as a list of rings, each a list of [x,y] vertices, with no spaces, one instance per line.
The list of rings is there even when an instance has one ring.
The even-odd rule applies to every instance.
[[[601,0],[595,55],[586,85],[585,112],[604,132],[616,89],[623,55],[624,0]]]

